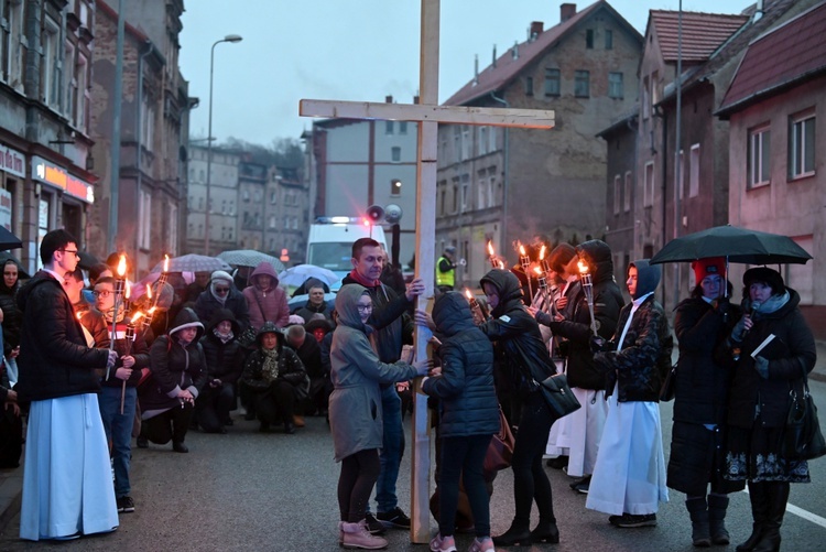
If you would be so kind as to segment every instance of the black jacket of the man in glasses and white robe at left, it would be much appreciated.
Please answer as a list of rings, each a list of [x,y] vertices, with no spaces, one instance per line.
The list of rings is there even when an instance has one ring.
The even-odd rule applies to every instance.
[[[109,351],[86,345],[66,292],[40,271],[18,293],[23,312],[20,335],[20,401],[42,401],[100,390],[95,369],[105,370]]]

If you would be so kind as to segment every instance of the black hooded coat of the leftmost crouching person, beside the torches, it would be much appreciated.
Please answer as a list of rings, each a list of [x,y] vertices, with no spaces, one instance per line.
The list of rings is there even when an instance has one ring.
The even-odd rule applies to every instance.
[[[175,334],[184,328],[195,327],[195,338],[185,347]],[[150,347],[150,366],[152,379],[141,389],[141,411],[143,419],[160,414],[182,405],[178,391],[188,390],[194,398],[198,397],[207,377],[204,349],[198,339],[204,335],[204,325],[192,309],[184,307],[175,316],[169,334],[162,335]],[[146,415],[150,414],[150,415]]]

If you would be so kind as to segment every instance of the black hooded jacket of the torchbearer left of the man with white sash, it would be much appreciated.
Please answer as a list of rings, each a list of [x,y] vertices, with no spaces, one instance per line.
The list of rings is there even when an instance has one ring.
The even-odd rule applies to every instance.
[[[600,240],[580,243],[577,255],[594,268],[594,318],[597,333],[610,339],[617,331],[617,318],[623,300],[617,282],[613,280],[613,261],[611,249]],[[573,306],[572,306],[573,305]],[[551,322],[547,326],[554,336],[568,340],[566,371],[568,385],[580,389],[605,389],[605,375],[594,366],[594,353],[590,350],[590,311],[585,290],[577,285],[576,295],[568,299],[568,316],[562,322]]]

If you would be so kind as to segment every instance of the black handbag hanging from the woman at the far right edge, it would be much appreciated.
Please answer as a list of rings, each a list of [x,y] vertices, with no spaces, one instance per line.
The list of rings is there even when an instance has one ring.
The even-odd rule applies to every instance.
[[[791,404],[783,435],[783,456],[792,461],[819,458],[826,454],[826,441],[817,421],[817,407],[808,392],[808,378],[803,375],[803,393],[792,389]]]

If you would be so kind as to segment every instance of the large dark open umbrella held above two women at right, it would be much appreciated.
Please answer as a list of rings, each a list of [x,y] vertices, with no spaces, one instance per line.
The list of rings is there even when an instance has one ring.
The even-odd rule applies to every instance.
[[[812,258],[787,236],[727,225],[674,238],[651,258],[651,264],[709,257],[748,264],[805,264]]]

